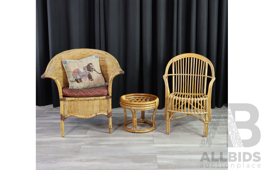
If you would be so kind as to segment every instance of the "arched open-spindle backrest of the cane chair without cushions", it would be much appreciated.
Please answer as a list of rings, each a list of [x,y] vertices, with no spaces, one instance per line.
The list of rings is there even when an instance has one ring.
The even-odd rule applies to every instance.
[[[208,65],[211,70],[210,76],[208,75]],[[171,74],[168,74],[170,68]],[[175,92],[181,96],[184,95],[184,98],[194,98],[195,95],[206,94],[208,89],[207,78],[214,79],[214,67],[211,61],[204,56],[192,53],[181,54],[168,62],[163,76],[167,82],[168,76],[172,78],[170,80],[172,86],[169,89],[167,83],[166,96]]]

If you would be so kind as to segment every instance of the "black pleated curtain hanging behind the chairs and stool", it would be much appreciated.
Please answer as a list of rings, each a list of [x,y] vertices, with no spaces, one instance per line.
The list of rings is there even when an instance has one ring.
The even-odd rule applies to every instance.
[[[51,79],[41,79],[56,54],[93,48],[112,54],[124,75],[114,78],[112,108],[121,95],[149,93],[164,108],[163,74],[179,54],[214,65],[212,108],[227,103],[227,0],[37,0],[36,105],[59,106]]]

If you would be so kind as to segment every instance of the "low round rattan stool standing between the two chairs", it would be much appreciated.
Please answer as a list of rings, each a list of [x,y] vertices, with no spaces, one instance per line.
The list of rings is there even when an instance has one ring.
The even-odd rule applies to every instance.
[[[155,129],[155,114],[159,105],[159,98],[151,94],[127,94],[120,97],[120,106],[124,109],[124,129],[134,133],[145,133]],[[126,109],[131,110],[132,120],[126,120]],[[145,118],[145,110],[154,109],[152,120]],[[136,118],[136,111],[141,110],[141,117]],[[138,129],[137,122],[148,123],[152,125],[149,129]],[[127,124],[133,123],[131,128],[126,127]]]

